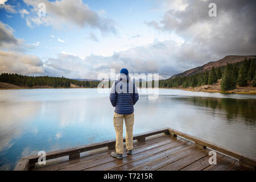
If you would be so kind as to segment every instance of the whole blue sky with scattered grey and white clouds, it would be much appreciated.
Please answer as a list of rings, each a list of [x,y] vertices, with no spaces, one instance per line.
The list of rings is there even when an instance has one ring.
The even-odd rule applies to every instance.
[[[127,68],[168,78],[226,55],[256,55],[255,7],[254,0],[0,0],[0,73],[97,79]]]

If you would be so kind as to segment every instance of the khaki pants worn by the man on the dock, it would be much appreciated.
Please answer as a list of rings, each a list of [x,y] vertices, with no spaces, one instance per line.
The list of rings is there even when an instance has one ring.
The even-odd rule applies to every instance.
[[[134,113],[133,114],[117,114],[114,113],[114,127],[116,134],[115,142],[115,152],[117,154],[123,154],[123,119],[125,119],[126,127],[126,149],[133,150],[133,123],[134,123]]]

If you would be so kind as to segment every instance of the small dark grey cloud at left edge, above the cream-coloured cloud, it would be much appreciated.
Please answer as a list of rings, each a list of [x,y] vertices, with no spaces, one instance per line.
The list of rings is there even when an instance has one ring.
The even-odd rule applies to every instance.
[[[13,35],[13,28],[0,22],[0,48],[5,48],[15,51],[24,51],[22,44],[23,39],[16,39]]]

